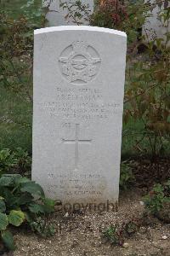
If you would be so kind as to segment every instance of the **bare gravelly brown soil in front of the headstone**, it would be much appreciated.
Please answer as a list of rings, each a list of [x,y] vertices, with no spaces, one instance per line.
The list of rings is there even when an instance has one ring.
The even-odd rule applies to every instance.
[[[101,236],[102,230],[109,225],[141,218],[143,212],[139,189],[120,196],[118,212],[86,212],[85,215],[55,212],[56,234],[42,239],[22,230],[14,235],[17,244],[14,256],[170,256],[170,225],[156,218],[145,219],[139,231],[127,238],[126,247],[111,246]]]

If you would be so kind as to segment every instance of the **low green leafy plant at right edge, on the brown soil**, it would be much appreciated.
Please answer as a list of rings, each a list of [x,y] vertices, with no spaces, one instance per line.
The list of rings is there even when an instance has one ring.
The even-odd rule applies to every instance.
[[[148,212],[156,215],[165,203],[170,204],[170,179],[167,183],[156,184],[148,195],[144,196],[144,205]]]

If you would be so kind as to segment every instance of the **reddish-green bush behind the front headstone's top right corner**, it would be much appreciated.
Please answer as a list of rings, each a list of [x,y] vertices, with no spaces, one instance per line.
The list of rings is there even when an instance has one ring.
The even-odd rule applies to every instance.
[[[98,0],[90,24],[126,32],[130,49],[138,41],[147,10],[149,7],[143,0]]]

